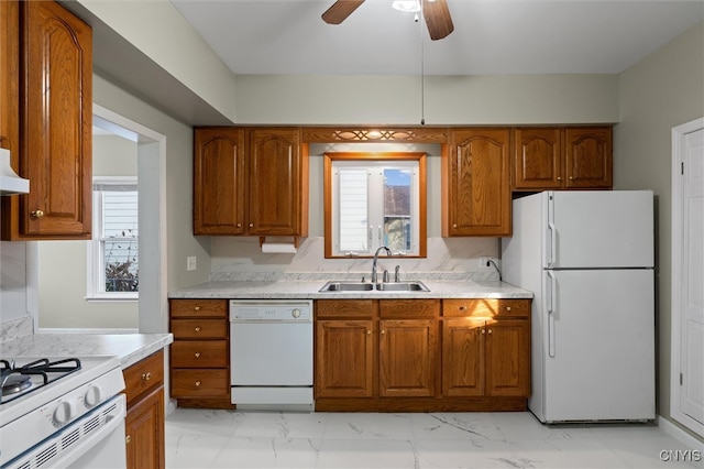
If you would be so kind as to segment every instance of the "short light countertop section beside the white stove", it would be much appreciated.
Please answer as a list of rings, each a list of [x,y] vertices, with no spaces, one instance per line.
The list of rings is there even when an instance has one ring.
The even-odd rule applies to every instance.
[[[7,357],[117,357],[124,370],[173,341],[172,334],[33,334],[0,349]]]

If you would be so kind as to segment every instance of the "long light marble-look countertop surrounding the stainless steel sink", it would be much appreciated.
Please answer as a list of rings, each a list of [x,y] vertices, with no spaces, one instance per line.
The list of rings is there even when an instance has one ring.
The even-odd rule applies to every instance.
[[[430,292],[319,292],[324,281],[206,282],[169,292],[169,298],[213,299],[384,299],[532,298],[532,292],[499,281],[422,281]]]

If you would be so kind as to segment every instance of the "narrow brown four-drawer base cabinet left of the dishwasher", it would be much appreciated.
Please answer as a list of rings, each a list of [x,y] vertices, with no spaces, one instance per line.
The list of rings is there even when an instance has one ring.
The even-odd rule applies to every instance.
[[[170,299],[170,396],[182,407],[230,408],[227,299]]]

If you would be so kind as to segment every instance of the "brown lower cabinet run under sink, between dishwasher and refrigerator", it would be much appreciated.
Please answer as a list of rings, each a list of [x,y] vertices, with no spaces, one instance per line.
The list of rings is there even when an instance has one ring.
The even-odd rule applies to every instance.
[[[317,411],[520,411],[529,299],[316,302]]]

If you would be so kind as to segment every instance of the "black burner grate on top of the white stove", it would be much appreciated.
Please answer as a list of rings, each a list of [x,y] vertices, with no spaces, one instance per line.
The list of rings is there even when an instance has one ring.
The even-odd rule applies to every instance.
[[[0,360],[0,404],[41,389],[78,370],[80,370],[80,360],[77,358],[57,361],[43,358],[21,367],[15,366],[14,361]],[[31,377],[38,377],[38,380],[33,383]],[[8,395],[11,397],[6,397]]]

